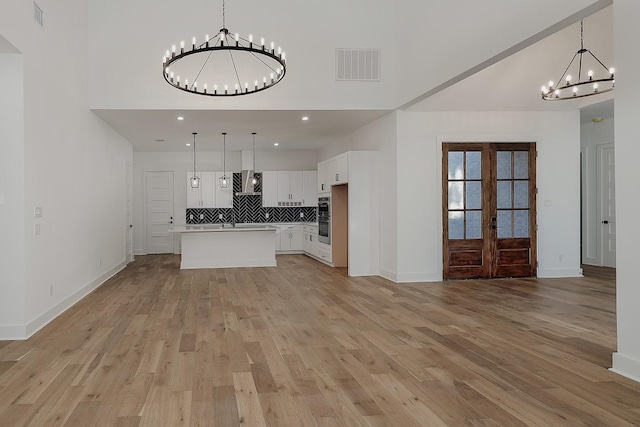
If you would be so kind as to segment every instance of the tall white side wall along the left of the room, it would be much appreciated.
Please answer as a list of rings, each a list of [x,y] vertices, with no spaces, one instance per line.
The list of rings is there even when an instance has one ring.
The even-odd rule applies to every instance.
[[[23,58],[24,170],[12,179],[23,180],[24,202],[21,235],[10,244],[23,246],[25,258],[23,333],[0,339],[33,334],[125,265],[124,170],[132,147],[88,109],[86,2],[39,4],[44,28],[33,21],[31,2],[7,0],[0,15],[3,36]]]

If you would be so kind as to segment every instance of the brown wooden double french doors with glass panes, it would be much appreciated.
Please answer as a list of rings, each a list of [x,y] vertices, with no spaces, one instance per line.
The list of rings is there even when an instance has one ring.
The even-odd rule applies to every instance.
[[[535,143],[444,143],[445,279],[536,271]]]

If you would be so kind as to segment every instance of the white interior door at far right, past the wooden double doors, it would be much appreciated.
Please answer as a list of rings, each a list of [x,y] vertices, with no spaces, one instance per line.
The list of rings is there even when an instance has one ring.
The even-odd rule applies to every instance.
[[[613,144],[598,146],[600,166],[600,247],[602,265],[616,266],[616,171]]]

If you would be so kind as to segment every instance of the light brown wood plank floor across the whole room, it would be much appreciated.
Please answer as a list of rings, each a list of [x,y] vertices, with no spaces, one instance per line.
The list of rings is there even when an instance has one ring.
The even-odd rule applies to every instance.
[[[142,256],[0,343],[0,426],[630,426],[611,279],[393,284]]]

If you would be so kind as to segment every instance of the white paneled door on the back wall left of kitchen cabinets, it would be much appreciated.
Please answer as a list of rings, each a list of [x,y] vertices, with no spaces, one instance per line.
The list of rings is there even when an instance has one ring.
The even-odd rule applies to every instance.
[[[173,253],[173,172],[146,174],[147,253]]]

